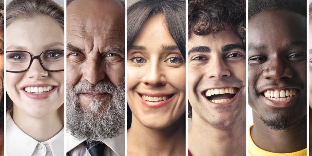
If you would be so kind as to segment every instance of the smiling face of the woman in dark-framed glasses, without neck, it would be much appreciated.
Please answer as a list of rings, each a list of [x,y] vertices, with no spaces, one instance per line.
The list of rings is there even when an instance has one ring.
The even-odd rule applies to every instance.
[[[16,20],[7,26],[7,51],[28,51],[38,56],[41,51],[47,50],[64,50],[64,30],[55,20],[39,16]],[[8,59],[20,61],[26,56],[19,53],[11,56],[7,53],[5,58],[8,70]],[[64,103],[64,71],[48,72],[42,68],[38,59],[32,61],[27,71],[7,72],[6,83],[7,94],[14,103],[14,112],[44,117]]]

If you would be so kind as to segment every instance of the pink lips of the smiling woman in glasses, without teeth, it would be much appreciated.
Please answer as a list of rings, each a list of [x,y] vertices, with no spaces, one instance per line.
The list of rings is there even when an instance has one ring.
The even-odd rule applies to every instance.
[[[45,86],[53,86],[53,89],[42,94],[33,94],[33,93],[28,93],[27,91],[24,90],[25,87],[45,87]],[[29,98],[35,99],[35,100],[42,100],[48,98],[54,91],[57,89],[57,86],[51,85],[51,84],[28,84],[28,85],[22,85],[20,87],[22,92]]]

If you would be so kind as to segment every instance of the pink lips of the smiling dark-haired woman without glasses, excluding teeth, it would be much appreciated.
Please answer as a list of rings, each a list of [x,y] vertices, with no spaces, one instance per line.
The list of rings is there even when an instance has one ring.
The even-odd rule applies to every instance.
[[[148,95],[148,96],[168,96],[167,94],[150,94],[150,93],[144,93],[144,95]],[[163,101],[155,101],[155,102],[150,102],[150,101],[146,101],[144,100],[141,95],[139,95],[139,99],[141,100],[142,104],[145,105],[145,106],[148,106],[148,107],[153,107],[153,108],[157,108],[157,107],[161,107],[161,106],[164,106],[164,105],[167,105],[168,103],[170,103],[170,101],[172,101],[172,99],[175,97],[175,94],[170,97],[169,99],[167,100],[163,100]]]

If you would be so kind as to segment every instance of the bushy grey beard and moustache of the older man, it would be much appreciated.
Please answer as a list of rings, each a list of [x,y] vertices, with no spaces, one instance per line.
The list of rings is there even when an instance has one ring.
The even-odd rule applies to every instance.
[[[90,108],[85,109],[80,106],[79,95],[87,91],[105,92],[112,98],[110,102],[93,100],[88,104]],[[100,141],[124,133],[124,83],[116,87],[111,82],[90,84],[85,80],[74,87],[67,85],[66,93],[67,129],[76,139]]]

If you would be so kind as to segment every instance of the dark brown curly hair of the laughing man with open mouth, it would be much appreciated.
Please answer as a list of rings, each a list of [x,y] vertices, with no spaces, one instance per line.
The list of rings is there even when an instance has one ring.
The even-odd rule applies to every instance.
[[[246,45],[245,0],[189,0],[188,38],[193,34],[213,36],[231,25]]]

